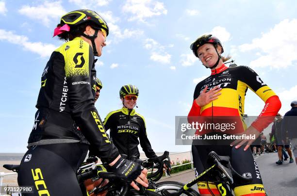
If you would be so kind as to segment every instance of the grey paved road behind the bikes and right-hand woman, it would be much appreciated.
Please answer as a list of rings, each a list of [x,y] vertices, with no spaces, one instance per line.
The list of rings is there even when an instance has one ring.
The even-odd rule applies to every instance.
[[[297,196],[297,165],[284,161],[277,165],[277,153],[262,154],[256,157],[261,172],[264,187],[268,196]],[[294,160],[295,162],[295,160]],[[194,171],[187,170],[182,173],[163,178],[161,181],[171,180],[187,183],[194,178]],[[197,185],[193,186],[197,190]]]

